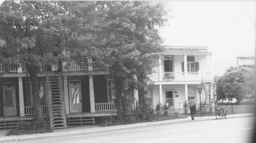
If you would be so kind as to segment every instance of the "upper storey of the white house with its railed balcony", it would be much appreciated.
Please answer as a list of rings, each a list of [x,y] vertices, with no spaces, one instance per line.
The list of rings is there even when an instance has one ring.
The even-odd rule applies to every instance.
[[[207,48],[201,48],[171,47],[165,50],[162,57],[156,59],[158,66],[148,77],[153,82],[212,80],[211,53],[207,52]]]

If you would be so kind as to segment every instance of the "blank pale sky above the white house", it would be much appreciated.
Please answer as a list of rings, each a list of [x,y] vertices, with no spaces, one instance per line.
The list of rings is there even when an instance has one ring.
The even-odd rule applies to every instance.
[[[254,56],[253,1],[164,1],[170,13],[159,29],[165,45],[207,46],[214,75],[236,66],[237,56]]]

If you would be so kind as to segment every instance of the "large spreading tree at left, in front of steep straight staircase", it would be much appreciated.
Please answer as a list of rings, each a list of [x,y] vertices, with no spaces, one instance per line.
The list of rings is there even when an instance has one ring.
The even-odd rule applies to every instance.
[[[59,61],[86,62],[95,55],[95,47],[104,44],[104,9],[94,1],[5,1],[0,6],[0,61],[5,67],[26,67],[36,121],[42,120],[38,73]]]

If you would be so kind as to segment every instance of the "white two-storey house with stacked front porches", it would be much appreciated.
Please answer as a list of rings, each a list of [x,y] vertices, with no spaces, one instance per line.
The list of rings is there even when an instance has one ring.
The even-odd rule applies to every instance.
[[[195,97],[199,108],[197,87],[203,87],[201,102],[214,106],[217,99],[211,70],[211,53],[207,47],[166,47],[154,72],[148,75],[147,99],[153,106],[168,103],[171,109],[183,109],[185,100]],[[214,110],[214,108],[212,108]]]

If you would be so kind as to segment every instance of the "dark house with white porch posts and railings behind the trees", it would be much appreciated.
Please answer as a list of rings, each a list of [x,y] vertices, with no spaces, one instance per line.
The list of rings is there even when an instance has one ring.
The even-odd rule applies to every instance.
[[[92,66],[81,62],[68,66],[62,63],[62,69],[55,67],[49,68],[50,74],[38,74],[41,110],[50,112],[52,128],[95,123],[95,117],[116,114],[109,73],[97,62],[92,62]],[[53,70],[59,72],[52,74]],[[138,99],[137,92],[133,95]],[[134,104],[129,108],[134,108]],[[0,129],[8,128],[9,120],[33,118],[32,85],[26,69],[0,65]]]

